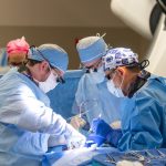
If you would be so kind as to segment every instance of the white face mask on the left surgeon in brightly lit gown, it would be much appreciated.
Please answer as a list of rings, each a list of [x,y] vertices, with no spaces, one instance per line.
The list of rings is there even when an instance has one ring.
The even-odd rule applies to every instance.
[[[49,91],[53,90],[59,83],[56,82],[58,75],[50,73],[49,77],[44,82],[39,82],[39,87],[44,92],[48,93]]]

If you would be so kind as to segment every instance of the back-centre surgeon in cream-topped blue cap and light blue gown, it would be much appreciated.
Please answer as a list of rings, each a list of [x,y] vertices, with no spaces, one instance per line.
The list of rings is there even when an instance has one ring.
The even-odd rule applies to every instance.
[[[81,39],[76,44],[76,50],[85,73],[79,82],[75,102],[80,111],[87,112],[89,123],[93,118],[102,116],[102,118],[111,124],[120,120],[120,114],[116,112],[116,108],[121,106],[121,101],[111,94],[107,89],[107,82],[102,66],[102,56],[106,53],[107,44],[103,37],[98,34],[86,37]],[[71,124],[75,128],[79,128],[85,123],[79,117],[75,117],[71,121]],[[117,124],[120,127],[120,123]]]

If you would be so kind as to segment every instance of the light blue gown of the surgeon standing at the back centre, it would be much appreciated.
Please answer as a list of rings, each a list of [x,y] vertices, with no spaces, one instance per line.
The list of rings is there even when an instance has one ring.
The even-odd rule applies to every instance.
[[[95,84],[89,73],[85,73],[79,82],[75,93],[75,103],[77,110],[82,110],[82,105],[87,103],[86,106],[83,107],[83,111],[86,112],[90,123],[98,115],[108,124],[121,120],[120,113],[123,98],[117,98],[111,94],[107,90],[106,82],[107,80],[104,80]],[[96,102],[94,103],[93,101]]]

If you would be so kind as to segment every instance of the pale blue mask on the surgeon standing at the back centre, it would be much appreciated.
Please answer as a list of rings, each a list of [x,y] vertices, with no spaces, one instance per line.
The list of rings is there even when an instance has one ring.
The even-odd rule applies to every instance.
[[[104,76],[105,74],[104,74],[104,71],[103,71],[102,66],[100,66],[96,72],[94,72],[94,70],[90,69],[89,74],[90,74],[91,79],[93,80],[93,82],[95,84],[98,84],[98,83],[103,82],[104,77],[105,77]]]

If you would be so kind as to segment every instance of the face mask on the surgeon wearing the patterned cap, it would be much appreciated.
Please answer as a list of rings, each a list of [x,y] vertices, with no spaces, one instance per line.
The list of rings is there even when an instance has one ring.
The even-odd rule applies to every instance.
[[[122,83],[123,83],[123,80],[122,80]],[[122,83],[121,83],[121,86],[122,86]],[[108,80],[106,85],[107,85],[107,90],[110,91],[110,93],[112,93],[116,97],[125,97],[123,92],[122,92],[121,86],[120,87],[115,87],[115,85],[113,83],[113,79]]]

